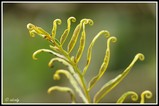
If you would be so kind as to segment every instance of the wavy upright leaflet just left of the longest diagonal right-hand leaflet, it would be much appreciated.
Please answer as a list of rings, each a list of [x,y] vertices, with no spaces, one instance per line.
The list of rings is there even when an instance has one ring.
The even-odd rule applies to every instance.
[[[106,53],[105,53],[105,57],[104,57],[104,61],[100,67],[99,73],[98,75],[96,75],[95,77],[93,77],[91,79],[91,81],[89,82],[89,87],[88,87],[88,91],[90,91],[92,89],[92,87],[97,83],[97,81],[103,76],[103,74],[105,73],[108,64],[109,64],[109,59],[110,59],[110,41],[112,42],[116,42],[116,37],[110,37],[108,38],[107,41],[107,49],[106,49]]]

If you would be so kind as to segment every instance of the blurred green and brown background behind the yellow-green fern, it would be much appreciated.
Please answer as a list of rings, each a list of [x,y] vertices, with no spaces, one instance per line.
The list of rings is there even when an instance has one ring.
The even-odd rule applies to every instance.
[[[120,74],[140,52],[145,55],[145,60],[137,61],[128,76],[101,102],[115,103],[129,90],[138,94],[150,90],[153,98],[146,102],[156,102],[155,3],[3,3],[3,102],[11,102],[5,101],[6,98],[18,98],[19,103],[70,102],[67,93],[47,94],[48,88],[53,85],[71,85],[64,76],[60,81],[52,79],[55,70],[64,67],[57,62],[54,68],[49,68],[48,62],[52,55],[41,53],[37,61],[32,59],[34,51],[49,48],[50,43],[39,36],[31,38],[26,28],[28,23],[33,23],[50,33],[53,20],[59,18],[62,20],[57,30],[59,39],[70,16],[77,19],[72,24],[72,32],[81,19],[90,18],[94,21],[93,26],[86,26],[86,48],[79,63],[81,70],[86,64],[87,48],[99,31],[108,30],[111,36],[118,39],[116,43],[111,43],[108,70],[91,91],[91,96],[104,83]],[[72,55],[76,53],[77,47]],[[86,73],[87,82],[98,73],[105,49],[106,39],[101,36],[93,47],[91,65]],[[80,98],[78,102],[82,102]],[[131,102],[130,98],[125,102]]]

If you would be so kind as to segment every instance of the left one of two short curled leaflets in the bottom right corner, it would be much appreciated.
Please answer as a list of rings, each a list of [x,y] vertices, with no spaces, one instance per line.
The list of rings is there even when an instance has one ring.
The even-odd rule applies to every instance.
[[[124,93],[117,101],[118,104],[123,103],[123,101],[126,99],[127,96],[131,95],[131,99],[133,101],[137,101],[138,100],[138,95],[137,93],[133,92],[133,91],[128,91],[126,93]]]

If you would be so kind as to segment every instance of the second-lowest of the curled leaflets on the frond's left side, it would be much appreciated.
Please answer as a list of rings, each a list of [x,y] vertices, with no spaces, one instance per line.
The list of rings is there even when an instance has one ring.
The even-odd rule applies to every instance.
[[[54,74],[54,80],[59,80],[60,79],[60,75],[59,74],[64,74],[70,81],[70,83],[72,84],[72,86],[74,87],[74,89],[76,90],[76,92],[79,94],[79,96],[82,98],[82,100],[86,103],[88,103],[87,98],[85,97],[85,95],[83,94],[80,86],[78,85],[77,81],[75,80],[75,78],[66,70],[57,70],[56,73]]]

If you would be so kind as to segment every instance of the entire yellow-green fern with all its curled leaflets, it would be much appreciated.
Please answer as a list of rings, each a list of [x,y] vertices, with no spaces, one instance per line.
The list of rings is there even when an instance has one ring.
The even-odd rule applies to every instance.
[[[104,84],[101,87],[101,89],[99,89],[99,91],[96,92],[96,94],[93,97],[93,100],[91,100],[90,91],[96,85],[96,83],[101,79],[101,77],[107,70],[109,60],[110,60],[110,44],[111,42],[116,42],[117,38],[110,36],[110,33],[107,30],[100,31],[90,43],[87,50],[86,65],[83,68],[83,70],[80,70],[78,67],[78,63],[81,59],[81,56],[83,55],[83,50],[85,48],[85,42],[86,42],[85,26],[86,24],[93,25],[93,21],[91,19],[86,19],[86,18],[80,21],[80,23],[76,26],[73,32],[72,38],[70,39],[67,45],[67,50],[65,50],[63,48],[63,45],[71,30],[71,24],[72,22],[75,22],[75,21],[76,19],[74,17],[68,18],[67,28],[64,30],[63,34],[61,35],[60,40],[56,39],[57,25],[60,25],[62,22],[60,19],[56,19],[53,21],[53,29],[52,29],[51,35],[45,30],[43,30],[41,27],[37,27],[29,23],[27,25],[27,28],[32,37],[34,37],[35,34],[37,34],[51,43],[50,49],[37,50],[33,53],[32,57],[34,60],[37,60],[36,55],[38,53],[47,52],[56,56],[55,58],[52,58],[50,60],[48,64],[49,67],[52,67],[52,65],[54,64],[54,61],[59,61],[68,67],[68,70],[64,70],[64,69],[57,70],[55,74],[53,75],[53,78],[54,80],[59,80],[60,74],[64,74],[68,78],[69,82],[72,84],[74,89],[71,89],[69,87],[53,86],[48,89],[48,93],[51,93],[54,90],[61,91],[61,92],[68,92],[71,95],[72,102],[74,103],[76,102],[76,97],[74,92],[77,92],[84,103],[92,103],[92,102],[98,103],[104,96],[106,96],[106,94],[108,94],[115,86],[117,86],[126,77],[126,75],[129,73],[129,71],[131,70],[131,68],[136,63],[137,60],[141,60],[141,61],[144,60],[144,55],[141,53],[137,53],[133,61],[130,63],[130,65],[117,77],[110,80],[108,83]],[[96,40],[102,35],[105,35],[107,39],[107,49],[105,51],[105,57],[99,69],[98,74],[89,81],[88,85],[86,85],[85,73],[87,72],[91,62],[92,49]],[[78,50],[75,56],[71,56],[70,54],[77,43],[78,37],[80,37],[80,44],[79,44]],[[117,103],[123,103],[123,101],[128,95],[132,95],[131,97],[133,101],[138,100],[138,95],[135,92],[128,91],[117,100]],[[144,91],[141,94],[140,103],[144,103],[145,98],[151,98],[151,97],[152,97],[152,93],[150,91]]]

